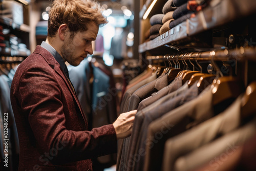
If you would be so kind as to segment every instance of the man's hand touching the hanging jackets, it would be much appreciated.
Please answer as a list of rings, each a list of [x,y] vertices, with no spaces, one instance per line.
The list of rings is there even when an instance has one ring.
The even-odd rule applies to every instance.
[[[137,110],[122,113],[113,123],[116,130],[116,138],[123,139],[132,134],[133,122]]]

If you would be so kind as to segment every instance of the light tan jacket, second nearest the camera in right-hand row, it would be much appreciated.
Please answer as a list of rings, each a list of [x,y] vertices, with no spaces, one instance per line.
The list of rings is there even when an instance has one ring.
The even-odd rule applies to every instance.
[[[174,163],[180,156],[186,155],[205,145],[220,135],[227,134],[240,125],[240,96],[223,113],[195,126],[166,141],[163,155],[163,170],[174,170]]]

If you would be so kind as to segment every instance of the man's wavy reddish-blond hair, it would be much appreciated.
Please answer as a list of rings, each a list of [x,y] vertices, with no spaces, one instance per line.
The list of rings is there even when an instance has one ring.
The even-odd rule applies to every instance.
[[[48,37],[54,37],[59,26],[66,24],[73,35],[86,31],[91,22],[98,26],[108,23],[102,8],[93,0],[55,0],[49,11]]]

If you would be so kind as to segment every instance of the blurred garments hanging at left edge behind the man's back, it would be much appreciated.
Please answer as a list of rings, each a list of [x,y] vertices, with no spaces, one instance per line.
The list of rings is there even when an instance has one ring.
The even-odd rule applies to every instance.
[[[22,57],[0,57],[0,163],[1,170],[17,170],[18,134],[11,106],[10,88]],[[8,155],[8,160],[6,160]],[[7,161],[7,162],[6,162]],[[5,165],[7,164],[8,167]]]

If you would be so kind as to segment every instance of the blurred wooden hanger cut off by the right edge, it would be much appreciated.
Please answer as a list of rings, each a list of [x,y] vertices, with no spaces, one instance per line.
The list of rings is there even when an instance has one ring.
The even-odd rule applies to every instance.
[[[256,81],[253,81],[246,88],[241,102],[241,118],[247,118],[256,113]]]

